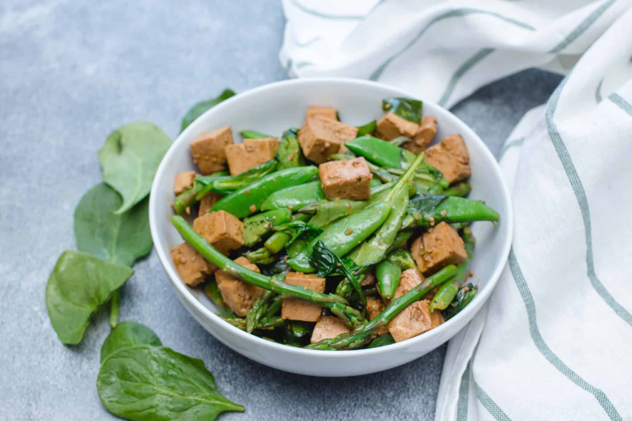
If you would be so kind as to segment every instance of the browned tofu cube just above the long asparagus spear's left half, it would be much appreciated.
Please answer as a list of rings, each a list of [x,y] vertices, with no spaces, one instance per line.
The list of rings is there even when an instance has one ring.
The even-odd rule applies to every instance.
[[[243,246],[243,223],[226,211],[198,216],[193,220],[193,229],[221,253]]]

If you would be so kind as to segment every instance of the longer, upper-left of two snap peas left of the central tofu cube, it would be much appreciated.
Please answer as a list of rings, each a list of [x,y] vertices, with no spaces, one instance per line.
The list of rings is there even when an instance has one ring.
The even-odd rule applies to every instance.
[[[237,218],[245,218],[255,213],[270,194],[285,187],[303,184],[316,174],[318,168],[313,165],[273,172],[220,199],[211,211],[223,210]]]

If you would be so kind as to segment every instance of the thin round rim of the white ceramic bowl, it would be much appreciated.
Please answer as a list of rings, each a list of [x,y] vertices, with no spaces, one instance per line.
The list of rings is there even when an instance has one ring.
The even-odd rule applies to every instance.
[[[182,133],[179,133],[176,139],[171,144],[171,146],[169,146],[169,150],[167,150],[164,157],[162,157],[161,163],[154,175],[154,181],[152,182],[152,188],[150,191],[150,198],[149,198],[149,226],[150,226],[152,240],[154,241],[154,244],[157,244],[157,239],[159,238],[158,237],[159,232],[158,232],[156,220],[158,218],[158,213],[159,213],[159,209],[161,209],[161,205],[164,205],[157,202],[158,200],[157,194],[154,194],[154,192],[159,188],[158,183],[157,183],[157,179],[159,177],[157,177],[157,175],[161,174],[161,172],[163,172],[166,169],[170,158],[172,157],[172,155],[176,153],[176,149],[177,149],[176,145],[178,145],[178,143],[181,143],[183,141],[182,139],[188,136],[188,134],[190,134],[191,132],[200,131],[198,126],[202,126],[204,124],[203,121],[205,119],[204,118],[205,116],[208,116],[209,114],[213,114],[214,112],[217,112],[217,110],[221,110],[222,108],[229,107],[233,104],[233,102],[245,100],[251,95],[257,95],[260,93],[265,93],[266,91],[269,91],[269,90],[275,90],[279,86],[304,85],[304,84],[310,84],[310,83],[325,83],[325,84],[343,83],[343,84],[358,85],[358,86],[364,86],[364,87],[371,86],[371,87],[378,87],[378,88],[382,88],[386,90],[391,90],[393,92],[398,92],[398,95],[402,95],[403,97],[413,97],[413,98],[416,97],[416,95],[410,95],[409,93],[404,92],[404,90],[402,90],[401,88],[396,88],[394,86],[390,86],[385,83],[379,83],[375,81],[368,81],[368,80],[355,79],[355,78],[341,78],[341,77],[315,77],[315,78],[289,79],[289,80],[282,80],[282,81],[267,83],[262,86],[257,86],[256,88],[246,90],[245,92],[238,93],[237,95],[234,95],[233,97],[222,101],[220,104],[216,105],[212,109],[209,109],[206,112],[204,112],[202,116],[198,117],[188,127],[186,127],[186,129],[182,131]],[[461,121],[459,117],[455,116],[452,112],[445,109],[441,105],[438,105],[432,101],[427,101],[423,99],[422,101],[424,105],[428,104],[437,109],[441,109],[443,112],[446,112],[446,114],[451,116],[454,119],[454,121],[456,121],[457,124],[460,124],[463,127],[463,129],[461,130],[461,133],[465,135],[464,137],[468,139],[468,142],[478,143],[478,146],[482,150],[483,154],[487,155],[487,158],[489,158],[489,160],[493,162],[492,170],[496,173],[496,175],[501,180],[501,185],[499,187],[501,187],[502,199],[505,201],[505,205],[508,210],[507,215],[504,215],[504,222],[507,223],[508,232],[507,232],[506,238],[504,239],[504,244],[502,245],[502,252],[500,256],[501,258],[496,264],[494,271],[492,271],[492,275],[489,277],[489,280],[487,284],[485,285],[485,288],[482,288],[482,290],[480,290],[477,296],[475,297],[475,300],[483,302],[484,304],[485,301],[489,298],[489,295],[492,294],[492,291],[494,290],[500,278],[500,275],[502,271],[504,270],[504,266],[506,265],[507,258],[509,257],[509,249],[511,248],[511,241],[513,239],[513,228],[514,228],[514,223],[513,223],[514,215],[513,215],[511,194],[509,193],[509,189],[507,187],[506,181],[504,179],[504,176],[502,175],[502,171],[499,166],[499,163],[494,158],[494,155],[489,150],[487,145],[485,145],[485,143],[473,131],[473,129],[471,129],[471,127],[465,124],[465,122]],[[385,353],[385,352],[398,352],[398,350],[403,350],[404,348],[414,346],[416,343],[419,343],[421,341],[431,341],[434,336],[441,336],[443,331],[447,329],[446,324],[458,323],[460,319],[470,316],[472,312],[476,313],[480,311],[480,308],[476,308],[475,306],[468,305],[465,307],[465,309],[463,309],[458,314],[456,314],[456,316],[446,321],[446,323],[442,323],[440,326],[437,326],[437,328],[431,329],[430,331],[423,333],[423,335],[417,335],[408,340],[393,343],[386,347],[365,348],[361,350],[339,350],[336,352],[325,351],[325,350],[310,350],[310,349],[298,348],[298,347],[288,347],[287,345],[268,341],[258,336],[252,335],[250,333],[247,333],[246,331],[236,328],[235,326],[232,326],[229,323],[226,323],[223,319],[221,319],[221,317],[217,316],[217,314],[215,314],[213,311],[207,308],[204,304],[202,304],[195,297],[195,295],[193,295],[193,293],[185,285],[185,283],[181,282],[181,280],[179,279],[178,273],[176,273],[176,271],[174,271],[169,264],[171,262],[169,260],[170,256],[167,256],[164,252],[162,252],[161,247],[155,247],[155,248],[158,253],[158,257],[161,261],[162,267],[164,268],[164,270],[167,272],[167,275],[169,276],[169,280],[171,281],[171,284],[173,285],[173,287],[175,287],[179,291],[181,297],[183,297],[183,299],[185,299],[188,302],[188,304],[192,305],[195,308],[195,310],[198,312],[198,314],[200,314],[200,316],[204,316],[206,319],[208,319],[210,322],[214,324],[218,324],[218,325],[223,324],[224,328],[227,328],[228,331],[231,331],[232,333],[234,333],[234,335],[240,336],[241,338],[243,338],[243,340],[252,341],[253,344],[258,345],[260,347],[267,348],[268,351],[289,352],[294,355],[303,355],[306,357],[316,357],[319,355],[322,355],[322,356],[326,355],[327,357],[334,357],[335,355],[340,355],[341,357],[355,355],[357,357],[362,357],[364,355],[377,355],[379,353]],[[475,314],[471,314],[470,319],[472,319],[474,316]],[[195,317],[193,317],[193,319],[195,319]],[[463,327],[465,328],[465,325]]]

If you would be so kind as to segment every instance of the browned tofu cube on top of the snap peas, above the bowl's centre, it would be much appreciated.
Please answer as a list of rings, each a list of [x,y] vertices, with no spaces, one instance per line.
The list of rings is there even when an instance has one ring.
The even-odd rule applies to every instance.
[[[363,157],[321,163],[318,172],[327,199],[365,200],[371,196],[373,174]]]

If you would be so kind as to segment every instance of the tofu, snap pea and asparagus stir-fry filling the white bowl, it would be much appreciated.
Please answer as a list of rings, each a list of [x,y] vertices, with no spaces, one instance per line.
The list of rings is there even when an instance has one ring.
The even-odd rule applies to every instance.
[[[430,146],[439,122],[418,100],[382,109],[355,127],[310,106],[281,138],[248,130],[234,143],[226,126],[191,142],[201,174],[174,182],[185,242],[171,254],[226,323],[293,347],[373,348],[439,326],[477,294],[470,223],[499,215],[465,198],[465,141]]]

